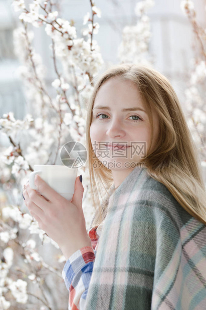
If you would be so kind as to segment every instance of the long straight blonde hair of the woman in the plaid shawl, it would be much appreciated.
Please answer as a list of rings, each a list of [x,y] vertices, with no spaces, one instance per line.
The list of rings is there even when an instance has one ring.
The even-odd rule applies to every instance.
[[[113,182],[110,169],[102,164],[99,168],[93,166],[94,162],[99,160],[94,154],[90,139],[92,108],[101,85],[115,76],[130,80],[136,85],[149,115],[150,146],[153,140],[151,110],[155,109],[158,114],[158,140],[153,150],[149,148],[144,158],[148,174],[163,183],[188,213],[206,224],[206,189],[200,158],[174,88],[169,80],[155,69],[146,65],[124,63],[113,65],[101,74],[88,102],[86,147],[91,197],[95,208],[92,226],[99,225],[106,216],[107,203],[104,203],[102,194],[106,192],[108,195],[108,189]]]

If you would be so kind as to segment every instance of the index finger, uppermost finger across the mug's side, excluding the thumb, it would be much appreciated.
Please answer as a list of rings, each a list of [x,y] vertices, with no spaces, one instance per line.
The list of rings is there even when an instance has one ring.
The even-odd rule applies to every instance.
[[[35,185],[38,187],[38,191],[49,199],[49,201],[55,202],[62,199],[62,196],[51,188],[38,174],[35,175]]]

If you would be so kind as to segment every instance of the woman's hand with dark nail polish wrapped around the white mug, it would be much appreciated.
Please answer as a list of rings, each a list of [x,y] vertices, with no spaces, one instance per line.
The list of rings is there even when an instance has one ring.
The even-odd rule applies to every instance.
[[[51,188],[38,174],[34,182],[43,196],[27,183],[23,189],[24,203],[39,227],[59,245],[65,258],[68,259],[83,246],[92,246],[82,210],[84,187],[79,176],[76,177],[70,201]]]

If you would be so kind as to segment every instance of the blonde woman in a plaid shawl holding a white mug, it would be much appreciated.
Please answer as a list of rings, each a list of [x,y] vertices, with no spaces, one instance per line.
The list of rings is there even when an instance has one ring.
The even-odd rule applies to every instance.
[[[91,244],[80,229],[76,251],[71,238],[60,246],[72,245],[62,272],[69,309],[204,309],[206,191],[168,79],[143,65],[109,68],[95,83],[86,132],[95,214]]]

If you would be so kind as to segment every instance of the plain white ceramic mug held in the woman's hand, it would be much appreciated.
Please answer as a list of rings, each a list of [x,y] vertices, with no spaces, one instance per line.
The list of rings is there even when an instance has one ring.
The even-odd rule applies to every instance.
[[[50,187],[64,198],[71,200],[74,194],[77,170],[78,168],[69,168],[64,165],[35,164],[34,171],[29,174],[29,186],[38,190],[34,184],[34,177],[39,174]],[[49,199],[49,197],[46,198]]]

